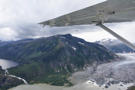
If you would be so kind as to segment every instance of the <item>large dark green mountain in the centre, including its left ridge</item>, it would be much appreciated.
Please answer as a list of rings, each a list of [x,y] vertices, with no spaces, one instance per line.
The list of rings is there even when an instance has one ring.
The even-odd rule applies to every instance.
[[[73,72],[93,64],[111,62],[116,57],[105,47],[70,34],[0,45],[0,58],[20,64],[9,72],[29,83],[72,85],[68,77]]]

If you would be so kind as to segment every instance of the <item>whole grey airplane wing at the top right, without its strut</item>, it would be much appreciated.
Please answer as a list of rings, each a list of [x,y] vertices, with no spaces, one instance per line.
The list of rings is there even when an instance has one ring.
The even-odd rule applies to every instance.
[[[72,26],[72,25],[84,25],[93,24],[98,22],[114,23],[114,22],[128,22],[135,19],[135,5],[119,5],[122,3],[114,4],[113,0],[102,2],[94,6],[90,6],[79,11],[72,12],[48,21],[41,22],[42,25],[50,26]],[[114,0],[118,1],[118,0]],[[124,0],[125,1],[125,0]],[[132,1],[132,0],[130,0]],[[122,7],[122,8],[118,8]],[[129,6],[128,8],[126,8]]]

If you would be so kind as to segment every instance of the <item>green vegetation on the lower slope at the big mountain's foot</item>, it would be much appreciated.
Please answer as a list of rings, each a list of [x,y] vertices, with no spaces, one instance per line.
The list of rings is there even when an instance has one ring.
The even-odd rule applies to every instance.
[[[70,76],[69,72],[56,72],[43,62],[31,62],[22,66],[9,69],[13,75],[25,78],[30,84],[33,83],[48,83],[57,86],[71,86],[67,80]]]

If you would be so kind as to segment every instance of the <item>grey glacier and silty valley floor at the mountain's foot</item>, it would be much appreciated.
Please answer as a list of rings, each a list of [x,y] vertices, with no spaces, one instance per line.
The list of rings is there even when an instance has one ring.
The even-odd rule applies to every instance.
[[[70,77],[71,82],[74,84],[72,87],[34,84],[21,85],[10,90],[127,90],[135,82],[134,75],[130,74],[135,73],[135,53],[118,55],[123,58],[118,61],[99,65],[93,75],[91,74],[92,67],[88,67],[85,71],[74,73]],[[111,76],[110,73],[114,74]],[[102,84],[99,81],[103,81]]]

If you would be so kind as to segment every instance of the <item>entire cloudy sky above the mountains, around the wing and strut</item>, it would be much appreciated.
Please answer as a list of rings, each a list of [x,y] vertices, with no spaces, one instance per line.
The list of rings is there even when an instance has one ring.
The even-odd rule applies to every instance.
[[[86,41],[113,36],[94,25],[62,28],[43,28],[37,24],[105,0],[0,0],[0,40],[47,37],[71,33]],[[131,42],[135,42],[135,23],[106,24]]]

